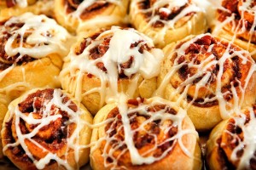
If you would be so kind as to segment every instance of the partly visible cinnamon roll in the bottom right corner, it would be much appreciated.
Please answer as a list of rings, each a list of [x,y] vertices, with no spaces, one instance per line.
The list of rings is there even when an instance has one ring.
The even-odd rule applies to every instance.
[[[256,169],[256,105],[214,127],[207,141],[210,169]]]

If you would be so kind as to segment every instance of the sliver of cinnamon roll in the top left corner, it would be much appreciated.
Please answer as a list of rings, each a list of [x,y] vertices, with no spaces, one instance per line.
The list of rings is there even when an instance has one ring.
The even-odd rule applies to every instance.
[[[53,16],[53,0],[0,0],[0,20],[26,12]]]

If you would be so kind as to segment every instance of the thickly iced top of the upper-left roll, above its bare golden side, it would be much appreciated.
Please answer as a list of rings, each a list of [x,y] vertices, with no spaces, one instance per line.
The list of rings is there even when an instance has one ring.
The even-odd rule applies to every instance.
[[[26,13],[1,24],[0,41],[0,65],[3,65],[3,69],[0,69],[1,82],[16,65],[41,59],[49,54],[66,55],[73,37],[55,20],[45,15]],[[21,87],[20,83],[13,84],[12,87]],[[27,85],[25,81],[24,88]]]

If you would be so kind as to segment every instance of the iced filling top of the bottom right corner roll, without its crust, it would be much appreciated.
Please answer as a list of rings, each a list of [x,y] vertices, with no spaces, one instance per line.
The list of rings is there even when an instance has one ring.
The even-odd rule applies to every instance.
[[[256,153],[255,106],[247,108],[227,124],[221,147],[230,153],[230,161],[237,169],[254,169]],[[229,156],[229,155],[228,155]]]

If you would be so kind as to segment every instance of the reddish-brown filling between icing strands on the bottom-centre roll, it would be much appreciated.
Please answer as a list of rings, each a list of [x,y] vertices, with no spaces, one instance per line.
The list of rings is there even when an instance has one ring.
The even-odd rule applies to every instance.
[[[131,99],[128,101],[128,106],[130,108],[136,108],[138,105],[143,105],[143,100]],[[152,114],[160,110],[165,110],[166,113],[172,115],[177,114],[177,111],[173,110],[170,106],[167,105],[152,105],[148,106],[147,109],[147,111],[152,112]],[[128,117],[130,118],[130,125],[132,130],[136,130],[142,125],[143,122],[147,121],[150,118],[150,116],[140,114],[139,112],[129,113]],[[119,144],[119,148],[115,150],[115,153],[113,154],[114,156],[119,156],[119,153],[127,148],[125,143],[120,144],[122,141],[125,140],[125,131],[124,127],[122,127],[122,115],[120,115],[119,109],[116,107],[108,114],[107,119],[108,118],[114,118],[115,121],[108,123],[108,125],[105,127],[105,131],[108,135],[108,138],[111,138],[110,145],[112,148],[116,147]],[[169,131],[166,133],[163,132],[163,129],[160,128],[160,126],[162,126],[162,123],[163,122],[160,119],[154,120],[154,122],[148,122],[144,126],[146,132],[141,130],[135,131],[134,135],[131,138],[133,139],[135,147],[140,154],[142,154],[146,150],[152,149],[154,147],[154,144],[160,144],[155,150],[151,151],[151,153],[149,154],[150,156],[159,157],[162,156],[164,151],[168,150],[170,147],[172,147],[173,144],[176,143],[175,139],[171,141],[166,141],[166,139],[170,139],[177,134],[177,126],[173,126],[171,120],[165,121],[165,125],[167,127],[170,127]],[[155,136],[157,139],[154,138]],[[169,153],[171,153],[171,151]],[[121,156],[118,162],[119,166],[132,166],[131,160],[127,160],[127,157],[130,157],[129,151],[126,151],[125,154]],[[113,160],[108,157],[107,161],[112,162]]]

